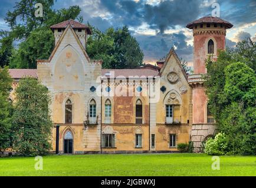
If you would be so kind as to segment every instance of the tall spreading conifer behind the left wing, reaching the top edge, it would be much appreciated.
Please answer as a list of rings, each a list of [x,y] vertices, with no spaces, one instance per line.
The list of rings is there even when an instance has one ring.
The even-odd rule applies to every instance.
[[[43,5],[43,16],[35,17],[35,4],[41,3]],[[5,21],[8,23],[11,30],[9,32],[0,32],[1,48],[0,48],[0,59],[2,59],[2,65],[9,65],[11,60],[11,68],[35,68],[36,62],[34,61],[38,56],[50,56],[49,51],[51,51],[51,46],[54,45],[52,42],[52,33],[50,34],[49,28],[51,25],[63,22],[67,19],[80,19],[79,16],[81,8],[79,6],[70,6],[68,9],[55,10],[52,8],[54,5],[54,0],[21,0],[17,2],[14,6],[14,11],[8,11],[6,14]],[[17,22],[18,21],[18,22]],[[37,36],[37,39],[41,39],[40,44],[35,44],[35,42],[28,42],[31,34],[35,33],[41,34],[42,36]],[[47,33],[50,35],[48,36]],[[32,39],[32,36],[30,36]],[[49,41],[50,39],[50,41]],[[19,49],[13,49],[12,42],[21,42],[18,46]],[[52,42],[51,46],[50,42]],[[37,48],[35,48],[35,46]],[[26,48],[26,51],[22,48]],[[41,50],[40,48],[44,48]],[[49,49],[45,49],[48,47]],[[32,53],[29,50],[32,49]],[[41,52],[42,55],[40,54]],[[27,54],[29,53],[29,54]],[[18,57],[17,57],[18,56]],[[31,62],[33,60],[33,62]],[[21,62],[25,62],[25,65]],[[21,63],[21,64],[20,64]]]

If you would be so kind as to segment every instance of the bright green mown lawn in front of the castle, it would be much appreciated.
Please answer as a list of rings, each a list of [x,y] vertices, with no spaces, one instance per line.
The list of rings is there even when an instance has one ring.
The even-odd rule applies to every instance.
[[[0,157],[0,176],[256,176],[256,156],[221,156],[212,170],[205,154],[44,156],[43,170],[34,157]]]

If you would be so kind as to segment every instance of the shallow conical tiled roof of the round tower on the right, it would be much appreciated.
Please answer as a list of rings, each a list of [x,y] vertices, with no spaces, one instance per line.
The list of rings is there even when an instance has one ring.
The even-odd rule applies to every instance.
[[[227,28],[232,28],[232,24],[230,24],[228,21],[225,21],[224,19],[214,17],[214,16],[205,16],[203,18],[197,19],[196,21],[193,21],[186,25],[186,28],[193,29],[193,25],[195,24],[223,24],[227,26]]]

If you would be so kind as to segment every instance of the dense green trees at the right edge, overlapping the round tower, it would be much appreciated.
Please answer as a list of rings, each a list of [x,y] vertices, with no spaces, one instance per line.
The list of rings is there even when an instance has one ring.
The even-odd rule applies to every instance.
[[[219,52],[206,62],[209,108],[219,129],[228,137],[231,153],[255,155],[255,43],[239,42],[237,48]]]

